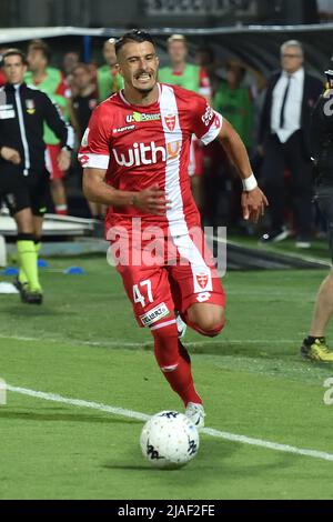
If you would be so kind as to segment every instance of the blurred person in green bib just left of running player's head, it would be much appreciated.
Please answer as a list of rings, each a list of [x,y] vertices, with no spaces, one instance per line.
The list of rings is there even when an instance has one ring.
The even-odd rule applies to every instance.
[[[110,38],[103,46],[105,64],[98,69],[99,101],[105,100],[113,94],[113,92],[123,88],[123,80],[117,68],[114,43],[115,39]]]

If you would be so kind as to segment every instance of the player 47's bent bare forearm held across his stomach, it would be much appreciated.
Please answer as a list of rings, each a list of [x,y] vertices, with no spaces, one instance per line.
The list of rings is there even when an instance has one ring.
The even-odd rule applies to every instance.
[[[83,170],[83,193],[89,201],[108,207],[132,205],[151,214],[165,214],[168,201],[163,191],[155,187],[140,192],[118,190],[105,183],[105,172],[104,169],[85,168]]]

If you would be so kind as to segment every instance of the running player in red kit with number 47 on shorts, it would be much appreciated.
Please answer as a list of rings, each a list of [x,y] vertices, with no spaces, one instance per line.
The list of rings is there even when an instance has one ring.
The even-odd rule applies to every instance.
[[[175,311],[192,329],[215,337],[224,325],[224,292],[211,254],[202,253],[188,175],[192,133],[205,144],[219,139],[230,153],[243,179],[246,219],[258,220],[268,202],[228,121],[201,96],[157,81],[159,59],[150,34],[129,32],[115,50],[124,89],[92,114],[79,154],[83,190],[89,200],[109,207],[107,237],[113,255],[120,252],[118,271],[137,321],[150,328],[161,371],[201,428],[202,399],[178,337]],[[161,252],[155,257],[149,255],[151,234]]]

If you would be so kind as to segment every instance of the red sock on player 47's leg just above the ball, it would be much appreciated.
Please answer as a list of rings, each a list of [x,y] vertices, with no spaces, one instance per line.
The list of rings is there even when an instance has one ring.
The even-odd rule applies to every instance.
[[[198,395],[188,351],[178,339],[175,324],[153,330],[155,358],[172,390],[179,394],[184,404],[195,402],[202,404]]]

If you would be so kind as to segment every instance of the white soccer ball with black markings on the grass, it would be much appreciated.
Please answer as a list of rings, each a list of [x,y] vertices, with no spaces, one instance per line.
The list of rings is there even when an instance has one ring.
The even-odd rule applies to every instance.
[[[154,468],[181,468],[196,455],[199,433],[183,413],[161,411],[144,424],[140,445]]]

